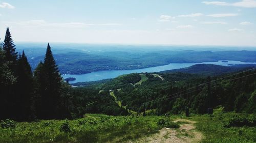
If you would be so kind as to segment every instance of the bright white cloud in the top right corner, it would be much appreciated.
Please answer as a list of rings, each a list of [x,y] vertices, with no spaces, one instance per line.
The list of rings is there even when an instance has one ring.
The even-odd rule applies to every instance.
[[[233,7],[243,7],[243,8],[256,8],[256,1],[255,0],[243,0],[236,3],[226,3],[226,2],[219,2],[219,1],[212,1],[212,2],[202,2],[206,5],[215,5],[215,6],[233,6]]]

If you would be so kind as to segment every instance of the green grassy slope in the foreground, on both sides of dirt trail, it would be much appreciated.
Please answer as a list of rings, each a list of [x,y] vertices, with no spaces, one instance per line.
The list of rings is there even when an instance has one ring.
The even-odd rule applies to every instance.
[[[183,115],[171,116],[171,120],[185,118],[197,121],[196,130],[203,133],[200,142],[256,142],[256,127],[225,127],[225,121],[236,113],[223,113],[215,110],[213,116],[193,115],[185,118]],[[254,116],[255,115],[249,115]],[[63,120],[17,123],[14,129],[0,128],[0,142],[126,142],[158,133],[165,126],[158,125],[158,116],[106,116],[87,114],[82,119],[69,121],[71,132],[59,130]],[[183,124],[182,122],[178,124]],[[178,134],[185,135],[186,134]]]

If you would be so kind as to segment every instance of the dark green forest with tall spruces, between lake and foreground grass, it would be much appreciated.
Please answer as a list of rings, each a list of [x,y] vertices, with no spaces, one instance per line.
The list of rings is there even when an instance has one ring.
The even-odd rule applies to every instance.
[[[74,119],[84,113],[169,115],[187,107],[204,114],[207,108],[219,106],[225,111],[256,113],[255,70],[211,77],[133,73],[72,88],[61,78],[49,44],[44,61],[33,72],[25,52],[15,51],[9,28],[1,45],[1,120]],[[219,70],[211,66],[214,69]]]

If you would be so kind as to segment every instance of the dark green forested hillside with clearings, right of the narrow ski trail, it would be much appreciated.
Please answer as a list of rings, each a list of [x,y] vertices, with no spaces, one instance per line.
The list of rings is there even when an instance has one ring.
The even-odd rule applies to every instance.
[[[113,90],[117,100],[127,109],[146,111],[146,114],[179,114],[186,107],[194,113],[207,113],[209,106],[223,106],[226,111],[256,113],[255,79],[255,70],[218,77],[146,73],[120,76],[100,84],[98,88]]]

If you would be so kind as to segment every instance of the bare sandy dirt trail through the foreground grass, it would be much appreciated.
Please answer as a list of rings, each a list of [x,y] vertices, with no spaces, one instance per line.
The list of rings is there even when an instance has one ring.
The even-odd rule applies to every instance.
[[[163,128],[159,130],[159,133],[150,137],[140,138],[134,142],[149,142],[149,143],[188,143],[199,142],[202,139],[202,134],[196,130],[194,124],[195,121],[186,119],[178,119],[175,122],[186,122],[181,124],[179,129]]]

